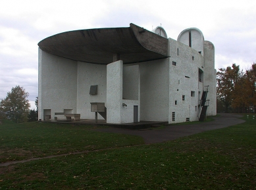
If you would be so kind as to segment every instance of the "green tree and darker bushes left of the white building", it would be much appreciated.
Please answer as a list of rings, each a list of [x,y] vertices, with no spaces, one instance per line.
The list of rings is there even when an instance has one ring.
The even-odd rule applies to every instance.
[[[38,97],[36,110],[30,110],[29,93],[20,85],[16,85],[7,93],[5,99],[0,100],[0,119],[8,118],[16,123],[34,122],[38,120]]]

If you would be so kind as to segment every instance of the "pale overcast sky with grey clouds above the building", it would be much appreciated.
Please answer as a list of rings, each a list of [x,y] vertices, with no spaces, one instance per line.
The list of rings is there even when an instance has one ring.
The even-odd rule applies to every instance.
[[[177,39],[199,28],[215,45],[215,68],[233,63],[245,70],[256,62],[256,1],[27,1],[0,3],[0,99],[20,85],[38,96],[38,42],[61,32],[90,28],[162,26]]]

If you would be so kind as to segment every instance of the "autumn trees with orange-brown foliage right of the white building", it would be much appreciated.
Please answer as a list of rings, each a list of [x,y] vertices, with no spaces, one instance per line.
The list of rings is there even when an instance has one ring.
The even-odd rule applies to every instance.
[[[232,64],[217,72],[217,112],[256,112],[256,63],[248,70]]]

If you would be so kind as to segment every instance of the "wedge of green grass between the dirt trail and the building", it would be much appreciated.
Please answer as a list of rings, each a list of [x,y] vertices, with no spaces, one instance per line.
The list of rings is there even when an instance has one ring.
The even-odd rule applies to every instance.
[[[5,120],[0,126],[0,162],[143,143],[141,137],[91,129],[93,126],[43,122],[14,124]]]

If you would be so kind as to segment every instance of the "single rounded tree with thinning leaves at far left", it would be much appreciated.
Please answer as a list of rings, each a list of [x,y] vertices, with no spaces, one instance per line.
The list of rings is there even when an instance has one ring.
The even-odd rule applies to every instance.
[[[20,85],[13,87],[7,93],[7,97],[1,101],[3,111],[7,113],[7,117],[13,122],[26,122],[30,103],[28,102],[28,92]]]

